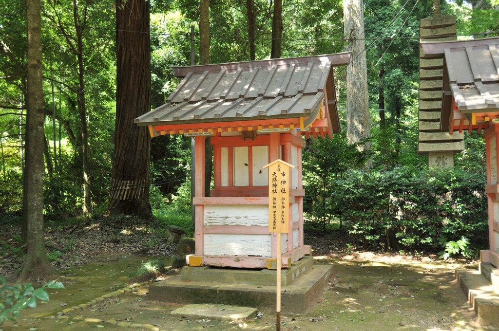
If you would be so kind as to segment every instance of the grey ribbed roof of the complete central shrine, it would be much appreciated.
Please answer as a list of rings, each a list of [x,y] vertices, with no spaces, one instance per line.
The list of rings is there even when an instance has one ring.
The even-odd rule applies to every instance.
[[[338,121],[332,67],[348,64],[350,56],[345,52],[173,67],[176,76],[184,77],[182,82],[164,105],[135,123],[164,126],[299,117],[311,123],[322,106],[329,108],[328,120]],[[338,123],[332,127],[339,130]]]

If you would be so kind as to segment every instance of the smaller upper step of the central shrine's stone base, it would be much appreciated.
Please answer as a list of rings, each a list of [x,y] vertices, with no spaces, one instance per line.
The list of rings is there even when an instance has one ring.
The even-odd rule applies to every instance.
[[[313,266],[313,257],[305,256],[291,264],[289,269],[281,270],[281,286],[289,285]],[[274,285],[275,270],[249,270],[216,267],[184,267],[180,279],[183,281],[203,280],[209,283],[234,283],[246,285]]]

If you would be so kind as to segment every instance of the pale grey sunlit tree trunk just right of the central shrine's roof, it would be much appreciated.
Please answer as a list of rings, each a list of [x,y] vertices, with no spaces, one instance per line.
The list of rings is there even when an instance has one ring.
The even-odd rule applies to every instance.
[[[367,66],[364,40],[364,10],[361,0],[343,0],[343,20],[347,47],[352,58],[347,66],[347,142],[355,144],[371,137],[367,96]],[[370,150],[365,144],[360,150]],[[371,162],[370,162],[371,163]]]

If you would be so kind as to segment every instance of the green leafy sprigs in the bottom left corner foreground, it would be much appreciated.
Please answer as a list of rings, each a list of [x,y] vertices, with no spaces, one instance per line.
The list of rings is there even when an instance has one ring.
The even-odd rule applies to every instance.
[[[48,301],[48,292],[45,289],[63,289],[60,282],[50,281],[35,289],[30,283],[7,284],[7,279],[0,276],[0,326],[6,321],[15,321],[20,312],[29,307],[35,308],[37,301]]]

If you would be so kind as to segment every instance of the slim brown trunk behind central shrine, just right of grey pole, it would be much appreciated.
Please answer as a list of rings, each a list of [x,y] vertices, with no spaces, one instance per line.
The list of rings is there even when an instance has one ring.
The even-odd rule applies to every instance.
[[[199,57],[201,64],[210,64],[210,0],[201,0],[199,6]],[[205,142],[205,196],[210,196],[213,148],[210,138]],[[192,184],[192,182],[191,182]]]

